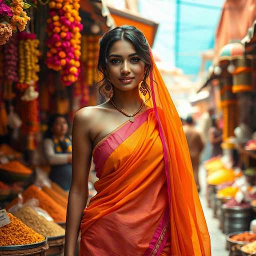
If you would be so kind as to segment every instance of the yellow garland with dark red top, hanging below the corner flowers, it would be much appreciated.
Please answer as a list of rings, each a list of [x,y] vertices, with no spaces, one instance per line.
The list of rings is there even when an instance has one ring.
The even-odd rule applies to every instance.
[[[18,83],[16,87],[23,90],[28,85],[35,84],[38,80],[37,72],[40,70],[38,57],[40,52],[37,49],[39,40],[34,33],[20,32],[18,34]]]

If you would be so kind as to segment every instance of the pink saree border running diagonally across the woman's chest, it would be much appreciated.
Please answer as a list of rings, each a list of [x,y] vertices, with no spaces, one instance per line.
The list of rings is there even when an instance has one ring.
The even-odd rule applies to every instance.
[[[105,138],[99,141],[92,151],[97,177],[100,176],[101,169],[103,168],[104,162],[109,155],[147,120],[147,115],[152,110],[152,108],[149,108],[141,114],[135,116],[134,122],[124,122],[122,125],[109,133]]]

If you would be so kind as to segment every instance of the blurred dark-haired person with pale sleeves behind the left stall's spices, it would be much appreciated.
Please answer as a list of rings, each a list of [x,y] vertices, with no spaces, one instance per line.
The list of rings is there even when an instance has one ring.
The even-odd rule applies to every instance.
[[[72,177],[71,137],[67,134],[68,123],[63,115],[52,115],[43,141],[44,153],[50,164],[49,178],[69,190]]]

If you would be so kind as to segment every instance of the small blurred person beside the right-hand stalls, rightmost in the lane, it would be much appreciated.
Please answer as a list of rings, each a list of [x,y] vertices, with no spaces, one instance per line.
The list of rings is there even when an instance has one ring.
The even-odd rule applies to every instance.
[[[210,157],[214,157],[222,154],[221,142],[222,142],[222,130],[219,127],[218,119],[215,115],[211,116],[211,127],[209,129],[209,141],[211,143]]]

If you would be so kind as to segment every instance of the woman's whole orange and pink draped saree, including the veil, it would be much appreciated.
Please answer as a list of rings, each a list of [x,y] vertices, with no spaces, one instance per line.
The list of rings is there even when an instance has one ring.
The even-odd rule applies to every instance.
[[[80,225],[81,256],[211,255],[182,124],[151,59],[148,109],[93,150],[99,179]]]

